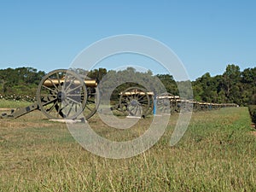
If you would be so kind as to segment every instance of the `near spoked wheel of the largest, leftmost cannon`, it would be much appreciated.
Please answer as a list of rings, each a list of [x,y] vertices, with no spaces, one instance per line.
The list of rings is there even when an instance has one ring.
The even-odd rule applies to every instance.
[[[44,85],[46,80],[52,85]],[[76,119],[87,101],[84,79],[66,69],[52,71],[38,85],[37,101],[39,109],[50,119]]]

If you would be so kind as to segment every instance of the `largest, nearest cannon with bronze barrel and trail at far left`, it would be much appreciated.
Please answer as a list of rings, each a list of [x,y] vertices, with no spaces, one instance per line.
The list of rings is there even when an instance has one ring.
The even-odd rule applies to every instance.
[[[46,74],[38,84],[36,101],[0,117],[18,118],[38,109],[49,119],[76,119],[81,113],[85,119],[90,119],[99,103],[97,81],[84,79],[73,71],[57,69]]]

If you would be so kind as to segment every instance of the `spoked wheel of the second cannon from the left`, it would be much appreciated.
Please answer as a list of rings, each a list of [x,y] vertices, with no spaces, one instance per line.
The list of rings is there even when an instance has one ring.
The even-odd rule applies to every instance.
[[[125,115],[145,117],[151,105],[147,90],[140,87],[130,87],[119,97],[119,108]]]

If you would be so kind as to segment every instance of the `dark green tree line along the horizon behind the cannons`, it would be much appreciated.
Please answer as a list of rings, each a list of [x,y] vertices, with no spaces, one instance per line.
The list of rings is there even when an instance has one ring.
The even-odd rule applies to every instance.
[[[185,86],[186,82],[175,82],[170,74],[153,75],[152,72],[137,72],[128,67],[122,72],[113,70],[107,71],[99,68],[90,72],[77,69],[79,73],[86,73],[92,79],[101,80],[107,73],[115,77],[117,73],[122,73],[122,77],[136,77],[137,75],[147,75],[158,78],[165,85],[166,90],[173,95],[178,95],[177,84]],[[8,100],[35,100],[36,90],[45,72],[38,71],[32,67],[7,68],[0,70],[0,97]],[[118,80],[118,79],[117,79]],[[133,79],[131,79],[132,81]],[[116,82],[113,82],[115,84]],[[151,82],[154,84],[154,80]],[[192,81],[194,99],[198,102],[234,102],[241,106],[256,104],[256,67],[247,68],[240,71],[240,67],[231,64],[226,67],[222,75],[211,77],[210,73],[205,73],[201,78]],[[132,84],[123,84],[118,90],[124,90]],[[157,84],[154,84],[157,87]]]

